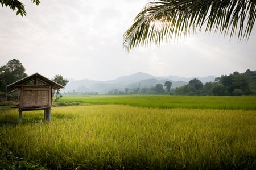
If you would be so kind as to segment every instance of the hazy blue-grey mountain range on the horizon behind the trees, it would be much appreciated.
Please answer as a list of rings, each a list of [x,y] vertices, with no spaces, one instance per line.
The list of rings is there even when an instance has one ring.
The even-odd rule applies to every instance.
[[[62,92],[98,92],[100,94],[105,94],[110,90],[118,89],[118,90],[125,90],[125,88],[143,88],[143,87],[151,87],[155,86],[156,84],[163,84],[166,81],[172,82],[171,88],[176,88],[178,86],[183,86],[188,84],[190,80],[193,78],[199,79],[201,82],[210,82],[215,80],[215,76],[208,76],[208,77],[178,77],[178,76],[167,76],[167,77],[155,77],[147,73],[138,72],[132,74],[130,76],[122,76],[116,78],[114,80],[109,81],[94,81],[94,80],[75,80],[70,81],[65,86],[65,89],[61,90]]]

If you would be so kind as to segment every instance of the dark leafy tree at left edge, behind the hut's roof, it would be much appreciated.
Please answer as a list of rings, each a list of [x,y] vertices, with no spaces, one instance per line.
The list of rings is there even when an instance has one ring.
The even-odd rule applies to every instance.
[[[27,77],[26,69],[19,60],[13,59],[6,65],[0,67],[0,90],[6,91],[6,85],[9,85],[21,78]]]

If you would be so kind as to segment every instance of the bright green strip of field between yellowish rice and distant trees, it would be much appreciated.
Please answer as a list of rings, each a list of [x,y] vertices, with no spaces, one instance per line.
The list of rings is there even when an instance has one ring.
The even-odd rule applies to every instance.
[[[64,96],[56,105],[118,104],[188,109],[253,109],[256,96]]]

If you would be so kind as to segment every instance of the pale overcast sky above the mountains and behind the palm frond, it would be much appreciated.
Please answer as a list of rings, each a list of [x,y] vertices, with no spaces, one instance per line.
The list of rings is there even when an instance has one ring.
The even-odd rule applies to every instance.
[[[0,6],[0,66],[18,59],[28,75],[112,80],[137,72],[205,77],[256,70],[256,26],[247,43],[201,33],[127,53],[123,33],[148,0],[22,2],[23,18]]]

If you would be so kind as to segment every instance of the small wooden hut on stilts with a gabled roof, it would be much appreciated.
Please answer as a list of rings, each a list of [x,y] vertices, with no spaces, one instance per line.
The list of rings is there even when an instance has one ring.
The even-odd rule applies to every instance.
[[[64,88],[39,73],[22,78],[6,87],[9,93],[19,95],[19,103],[14,106],[19,109],[19,123],[22,121],[22,111],[31,110],[44,110],[44,119],[50,121],[53,90]]]

